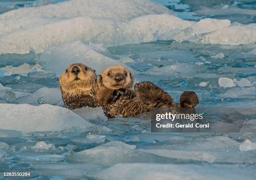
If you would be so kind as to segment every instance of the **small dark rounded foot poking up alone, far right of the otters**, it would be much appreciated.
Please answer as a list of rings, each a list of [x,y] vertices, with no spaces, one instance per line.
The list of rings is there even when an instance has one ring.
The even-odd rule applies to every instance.
[[[180,107],[195,107],[199,100],[194,91],[184,91],[179,98]]]

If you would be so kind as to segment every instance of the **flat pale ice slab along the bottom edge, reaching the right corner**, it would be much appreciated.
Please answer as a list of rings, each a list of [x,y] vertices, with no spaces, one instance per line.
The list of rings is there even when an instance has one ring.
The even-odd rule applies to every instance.
[[[90,170],[85,175],[109,180],[254,180],[255,169],[238,165],[124,163]]]

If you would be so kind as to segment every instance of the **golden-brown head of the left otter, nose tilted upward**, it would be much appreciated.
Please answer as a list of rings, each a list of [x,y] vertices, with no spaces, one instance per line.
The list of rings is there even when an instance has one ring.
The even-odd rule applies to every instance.
[[[90,90],[96,84],[96,74],[90,67],[82,63],[74,63],[67,67],[58,81],[61,89],[67,92]]]

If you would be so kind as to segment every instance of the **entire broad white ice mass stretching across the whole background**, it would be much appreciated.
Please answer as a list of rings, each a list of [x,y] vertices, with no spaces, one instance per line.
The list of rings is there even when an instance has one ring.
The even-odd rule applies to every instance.
[[[148,0],[98,1],[72,0],[0,15],[0,54],[43,52],[72,40],[106,46],[155,40],[223,45],[256,41],[255,24],[231,24],[230,20],[210,18],[199,22],[182,20]],[[17,25],[13,25],[15,22]]]

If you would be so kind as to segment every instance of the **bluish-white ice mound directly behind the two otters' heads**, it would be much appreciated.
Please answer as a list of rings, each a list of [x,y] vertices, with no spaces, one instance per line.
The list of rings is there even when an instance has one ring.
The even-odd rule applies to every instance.
[[[69,64],[74,62],[84,63],[88,67],[96,70],[97,73],[100,73],[105,67],[116,64],[126,66],[118,60],[113,60],[110,57],[102,55],[97,50],[96,45],[91,47],[80,41],[68,42],[46,50],[38,59],[38,62],[42,63],[46,70],[56,72],[57,74],[62,73]],[[101,48],[99,50],[101,50]],[[130,69],[132,73],[137,73],[136,70],[129,67],[128,69]]]

